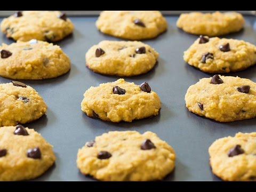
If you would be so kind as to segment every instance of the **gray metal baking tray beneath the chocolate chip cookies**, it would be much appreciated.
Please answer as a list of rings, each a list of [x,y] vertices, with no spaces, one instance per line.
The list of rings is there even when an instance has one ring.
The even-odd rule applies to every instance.
[[[125,81],[140,84],[149,82],[158,93],[162,109],[158,116],[132,123],[111,123],[87,117],[81,111],[83,93],[90,86],[116,81],[118,77],[93,73],[85,67],[85,53],[100,41],[120,40],[100,33],[95,27],[97,17],[70,17],[74,22],[74,34],[57,44],[71,60],[71,70],[58,78],[42,81],[22,81],[33,86],[42,95],[49,109],[46,115],[27,124],[41,133],[54,146],[57,156],[55,165],[35,181],[94,181],[79,172],[76,167],[78,148],[86,141],[108,131],[136,130],[140,133],[153,131],[167,141],[176,151],[176,167],[164,181],[219,181],[209,166],[208,148],[218,138],[234,135],[236,132],[256,131],[256,118],[231,123],[218,123],[211,119],[190,113],[185,106],[188,87],[200,78],[211,77],[183,61],[183,51],[197,36],[184,33],[175,26],[177,16],[167,16],[166,33],[143,41],[159,52],[158,65],[145,75],[126,77]],[[246,16],[244,30],[223,37],[243,39],[256,44],[256,17]],[[2,19],[0,19],[2,21]],[[12,43],[4,35],[0,42]],[[232,76],[249,78],[256,82],[256,66],[231,73]],[[0,83],[10,79],[0,77]]]

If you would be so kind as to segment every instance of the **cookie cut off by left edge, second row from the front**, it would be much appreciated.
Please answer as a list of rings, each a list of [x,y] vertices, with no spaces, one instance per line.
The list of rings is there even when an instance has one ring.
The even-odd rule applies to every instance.
[[[43,98],[32,87],[17,81],[0,84],[0,126],[34,121],[46,110]]]

